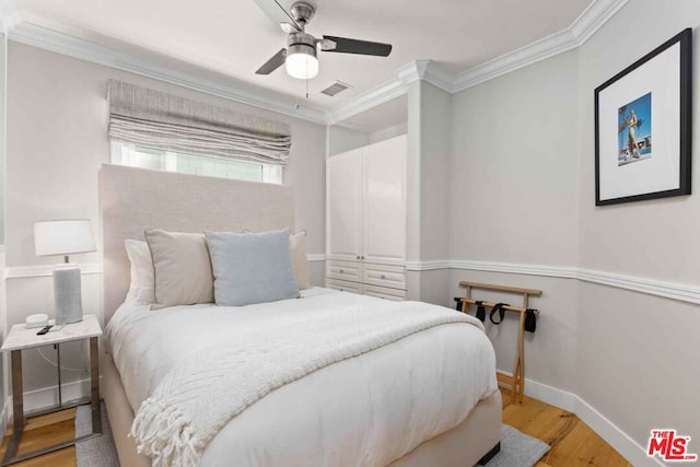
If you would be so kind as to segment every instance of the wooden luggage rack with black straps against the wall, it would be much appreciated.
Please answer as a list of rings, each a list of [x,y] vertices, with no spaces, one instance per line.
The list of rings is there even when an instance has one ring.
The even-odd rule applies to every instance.
[[[511,387],[511,401],[523,404],[523,394],[525,392],[525,312],[529,307],[529,297],[530,296],[539,296],[542,294],[541,290],[536,289],[521,289],[517,287],[508,287],[508,285],[494,285],[490,283],[478,283],[478,282],[459,282],[460,287],[465,287],[467,289],[467,296],[462,299],[462,312],[467,313],[467,308],[469,305],[475,305],[477,300],[471,296],[471,289],[480,289],[480,290],[489,290],[494,292],[506,292],[513,294],[523,295],[523,305],[522,306],[503,306],[503,310],[508,310],[509,312],[515,312],[521,314],[521,322],[517,331],[517,357],[515,358],[515,364],[513,365],[513,375],[509,375],[501,372],[495,372],[495,377],[500,384],[506,385]],[[455,299],[456,300],[456,299]],[[495,305],[494,302],[480,301],[481,305],[486,307],[493,307]],[[539,311],[535,311],[536,315],[539,315]]]

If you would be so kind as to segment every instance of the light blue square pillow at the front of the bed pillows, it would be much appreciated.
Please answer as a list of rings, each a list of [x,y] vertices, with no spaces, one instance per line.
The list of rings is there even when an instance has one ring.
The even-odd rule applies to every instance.
[[[289,230],[262,233],[205,232],[222,306],[298,299]]]

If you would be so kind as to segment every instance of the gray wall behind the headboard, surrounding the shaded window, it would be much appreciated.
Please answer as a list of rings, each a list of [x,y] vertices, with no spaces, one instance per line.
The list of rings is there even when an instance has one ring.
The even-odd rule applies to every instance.
[[[11,42],[7,186],[7,266],[11,270],[57,261],[34,255],[35,221],[89,218],[100,238],[97,171],[109,162],[106,81],[110,78],[290,124],[293,144],[284,183],[295,188],[296,227],[307,230],[310,254],[325,253],[325,126]],[[101,253],[77,255],[74,260],[98,264]],[[313,282],[323,284],[323,262],[313,262],[312,273]],[[85,313],[101,314],[101,275],[83,275]],[[51,293],[50,278],[8,279],[8,324],[50,312]],[[38,355],[27,352],[25,360],[28,389],[54,384],[51,367]],[[71,359],[66,362],[79,365]]]

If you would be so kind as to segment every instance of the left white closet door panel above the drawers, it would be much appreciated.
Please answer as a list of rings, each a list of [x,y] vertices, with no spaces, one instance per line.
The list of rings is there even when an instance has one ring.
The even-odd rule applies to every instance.
[[[326,161],[328,259],[357,261],[362,255],[362,150]]]

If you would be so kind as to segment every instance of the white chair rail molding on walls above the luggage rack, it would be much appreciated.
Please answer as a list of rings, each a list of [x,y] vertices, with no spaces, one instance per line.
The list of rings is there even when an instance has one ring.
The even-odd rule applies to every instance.
[[[442,259],[427,261],[407,261],[408,271],[432,271],[439,269],[462,269],[481,272],[505,272],[524,276],[541,276],[559,279],[576,279],[584,282],[631,290],[680,302],[700,304],[700,287],[668,282],[651,278],[622,275],[618,272],[571,266],[528,265],[520,262],[472,261],[463,259]]]

